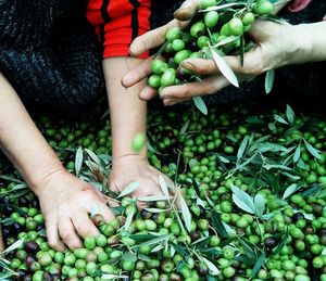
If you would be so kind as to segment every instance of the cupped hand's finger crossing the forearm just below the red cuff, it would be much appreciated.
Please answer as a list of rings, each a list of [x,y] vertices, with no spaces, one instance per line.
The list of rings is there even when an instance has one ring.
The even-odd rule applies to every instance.
[[[136,66],[135,68],[130,69],[123,78],[122,78],[122,86],[125,88],[129,88],[135,84],[141,81],[146,77],[151,74],[151,64],[152,58],[148,58],[141,64]]]

